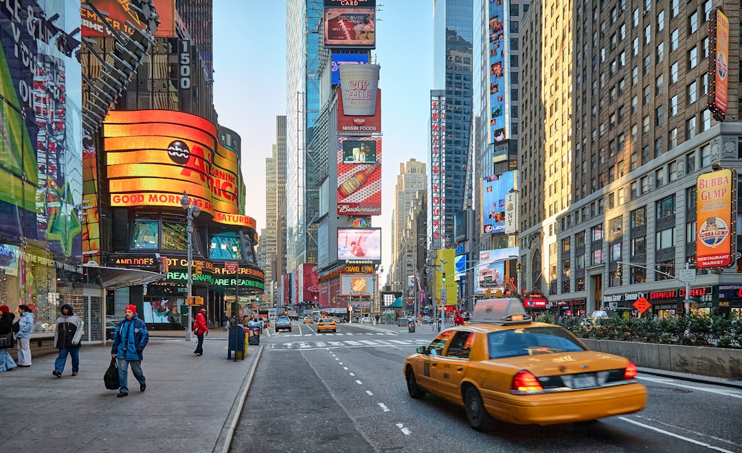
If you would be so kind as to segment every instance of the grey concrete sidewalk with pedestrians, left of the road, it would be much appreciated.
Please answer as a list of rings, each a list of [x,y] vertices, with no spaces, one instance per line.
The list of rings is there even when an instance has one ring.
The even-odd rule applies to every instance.
[[[103,385],[111,342],[83,346],[76,377],[69,358],[62,379],[51,374],[56,354],[0,374],[0,451],[227,452],[263,347],[227,360],[227,333],[214,329],[198,357],[184,336],[151,332],[147,391],[129,371],[126,398]]]

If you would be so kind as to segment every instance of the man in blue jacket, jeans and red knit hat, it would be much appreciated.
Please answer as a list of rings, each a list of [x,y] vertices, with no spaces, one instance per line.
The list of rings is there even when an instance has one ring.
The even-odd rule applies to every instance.
[[[116,358],[119,367],[119,394],[116,397],[128,397],[128,367],[139,381],[139,391],[145,391],[144,373],[142,373],[142,351],[149,341],[149,333],[144,321],[137,317],[137,307],[127,305],[124,310],[125,319],[116,326],[116,339],[111,347],[111,358]]]

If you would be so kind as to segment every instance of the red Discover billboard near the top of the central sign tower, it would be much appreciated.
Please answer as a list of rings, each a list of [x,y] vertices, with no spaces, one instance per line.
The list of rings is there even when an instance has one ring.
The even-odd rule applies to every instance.
[[[326,48],[375,48],[376,10],[373,7],[326,7],[324,44]]]

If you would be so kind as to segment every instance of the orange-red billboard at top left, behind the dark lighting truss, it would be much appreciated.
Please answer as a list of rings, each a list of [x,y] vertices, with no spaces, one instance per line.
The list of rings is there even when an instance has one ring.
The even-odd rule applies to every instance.
[[[111,28],[119,33],[125,33],[131,36],[134,30],[130,25],[134,25],[139,30],[148,27],[146,22],[139,20],[137,12],[128,7],[128,1],[119,0],[88,0],[93,6],[107,16],[106,22]],[[171,38],[175,34],[175,0],[153,0],[157,16],[160,16],[160,25],[157,26],[157,32],[154,36],[158,38]],[[80,7],[80,22],[82,25],[82,36],[88,38],[110,38],[111,30],[102,22],[98,15],[85,6],[85,1]],[[127,24],[128,22],[128,24]]]

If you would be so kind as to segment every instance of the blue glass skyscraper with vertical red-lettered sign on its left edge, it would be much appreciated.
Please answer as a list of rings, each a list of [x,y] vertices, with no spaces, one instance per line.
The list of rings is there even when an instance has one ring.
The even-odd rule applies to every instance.
[[[472,114],[473,2],[434,2],[433,27],[435,94],[431,91],[431,100],[433,97],[444,100],[440,107],[445,110],[439,123],[436,124],[437,120],[431,117],[433,135],[428,154],[428,229],[431,248],[442,248],[453,241],[453,215],[463,209],[467,199],[466,173],[469,167]],[[431,115],[434,116],[432,112]],[[439,128],[439,131],[433,131],[433,128]],[[436,140],[443,141],[436,146]],[[436,227],[441,228],[440,233],[433,232]],[[434,237],[438,235],[442,237]]]

